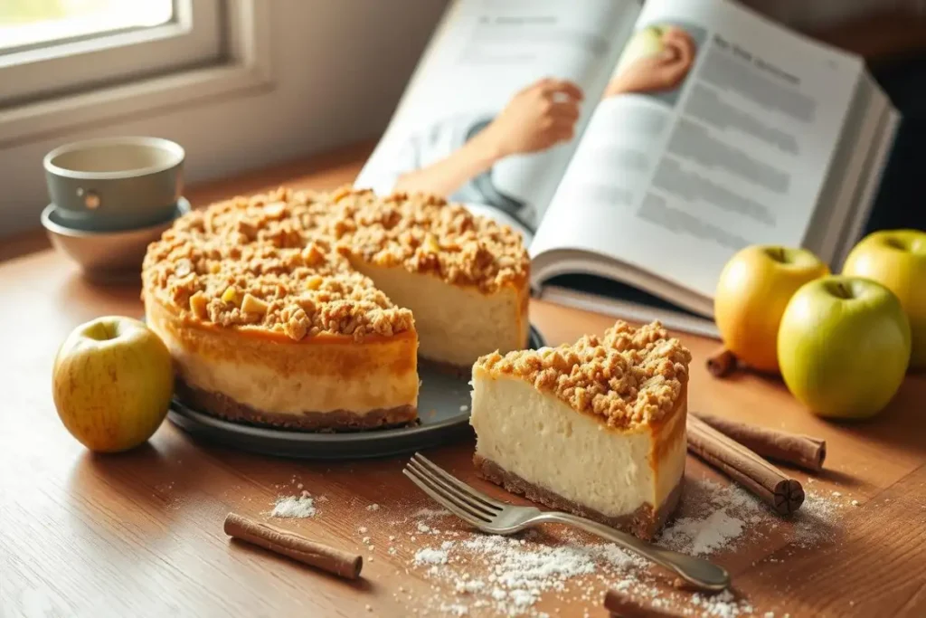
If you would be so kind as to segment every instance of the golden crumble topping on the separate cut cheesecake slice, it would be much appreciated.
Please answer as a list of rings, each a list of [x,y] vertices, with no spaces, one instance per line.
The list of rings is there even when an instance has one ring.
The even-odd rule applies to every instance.
[[[575,344],[483,356],[475,368],[511,375],[552,393],[608,426],[654,423],[675,408],[688,382],[691,353],[659,322],[633,328],[616,322],[604,337]]]

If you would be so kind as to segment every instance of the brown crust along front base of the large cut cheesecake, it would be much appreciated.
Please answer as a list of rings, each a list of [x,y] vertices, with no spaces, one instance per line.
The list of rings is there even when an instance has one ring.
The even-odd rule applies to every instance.
[[[270,425],[319,433],[358,432],[401,427],[418,420],[415,406],[381,408],[357,414],[350,410],[319,412],[307,410],[299,415],[255,410],[221,393],[213,393],[178,379],[177,396],[190,408],[219,416],[235,423]]]

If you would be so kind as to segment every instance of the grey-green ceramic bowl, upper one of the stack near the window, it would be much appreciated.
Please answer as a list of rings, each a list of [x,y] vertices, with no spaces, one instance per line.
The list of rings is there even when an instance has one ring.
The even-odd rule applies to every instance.
[[[43,160],[57,221],[114,232],[166,221],[182,191],[183,148],[158,137],[106,137],[58,146]]]

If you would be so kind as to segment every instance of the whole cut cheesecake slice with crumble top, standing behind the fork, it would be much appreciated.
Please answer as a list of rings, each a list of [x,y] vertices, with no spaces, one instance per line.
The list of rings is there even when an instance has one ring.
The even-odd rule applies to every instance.
[[[507,490],[641,538],[675,509],[691,354],[654,322],[472,370],[475,463]]]

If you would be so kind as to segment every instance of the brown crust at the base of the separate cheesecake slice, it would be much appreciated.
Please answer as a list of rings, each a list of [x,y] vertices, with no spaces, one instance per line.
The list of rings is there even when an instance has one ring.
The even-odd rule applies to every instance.
[[[662,526],[669,521],[675,508],[678,506],[679,498],[682,496],[682,480],[679,481],[671,492],[669,497],[657,511],[653,510],[653,505],[644,503],[639,509],[621,515],[619,517],[609,517],[604,513],[594,511],[582,506],[577,502],[563,498],[557,493],[536,486],[522,479],[518,474],[509,473],[493,460],[487,460],[482,455],[474,455],[473,463],[476,465],[476,471],[482,478],[491,481],[495,485],[503,486],[514,494],[520,494],[533,502],[538,502],[557,511],[566,511],[594,520],[595,522],[604,523],[612,528],[629,532],[633,536],[651,540],[656,536]],[[683,479],[683,477],[682,477]]]

